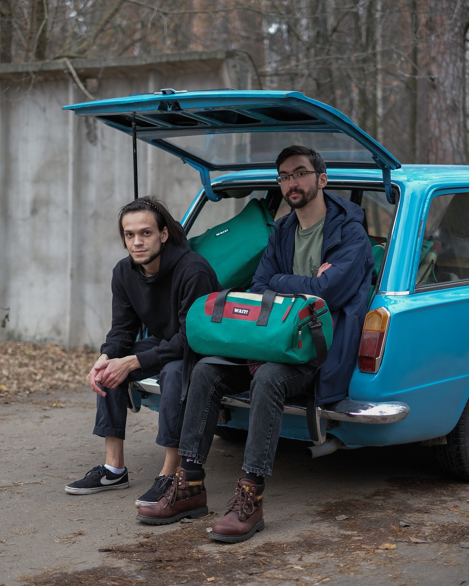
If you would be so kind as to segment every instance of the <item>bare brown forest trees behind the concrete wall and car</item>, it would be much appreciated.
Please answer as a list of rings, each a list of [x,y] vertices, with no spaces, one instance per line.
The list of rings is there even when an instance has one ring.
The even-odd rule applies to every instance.
[[[468,27],[469,0],[0,0],[0,62],[234,50],[401,162],[465,164]]]

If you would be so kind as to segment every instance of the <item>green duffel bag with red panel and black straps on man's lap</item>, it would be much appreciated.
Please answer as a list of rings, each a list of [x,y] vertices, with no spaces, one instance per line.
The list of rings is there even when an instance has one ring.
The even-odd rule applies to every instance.
[[[199,297],[186,316],[192,350],[202,356],[320,368],[332,343],[332,318],[313,295],[225,289]]]

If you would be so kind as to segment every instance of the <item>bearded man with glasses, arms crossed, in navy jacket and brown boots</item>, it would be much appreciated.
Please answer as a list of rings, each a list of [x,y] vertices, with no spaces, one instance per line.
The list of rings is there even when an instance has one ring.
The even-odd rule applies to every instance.
[[[363,211],[325,192],[324,159],[314,149],[288,147],[277,157],[277,182],[293,211],[274,223],[250,290],[303,293],[325,299],[334,340],[319,373],[292,364],[196,364],[189,387],[174,485],[157,505],[140,507],[137,519],[152,524],[206,515],[205,463],[223,395],[250,391],[244,478],[229,511],[210,537],[235,543],[264,529],[264,478],[271,475],[286,397],[315,393],[318,405],[345,398],[354,369],[371,287],[373,254]]]

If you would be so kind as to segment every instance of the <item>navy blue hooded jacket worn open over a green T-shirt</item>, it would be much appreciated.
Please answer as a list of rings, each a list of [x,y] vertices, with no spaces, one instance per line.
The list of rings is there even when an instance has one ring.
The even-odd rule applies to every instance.
[[[363,210],[334,193],[324,192],[327,205],[321,264],[331,263],[321,277],[293,274],[295,212],[274,222],[269,244],[257,267],[250,291],[305,293],[321,297],[334,320],[334,338],[316,383],[317,404],[345,398],[355,367],[366,301],[371,287],[373,253],[363,228]]]

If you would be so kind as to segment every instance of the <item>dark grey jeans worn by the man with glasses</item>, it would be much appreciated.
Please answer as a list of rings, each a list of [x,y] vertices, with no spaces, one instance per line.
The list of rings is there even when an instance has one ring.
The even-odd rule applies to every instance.
[[[254,377],[247,366],[196,364],[192,371],[179,454],[205,462],[223,395],[250,391],[249,433],[243,470],[271,475],[286,397],[314,391],[315,374],[291,364],[267,362]]]

